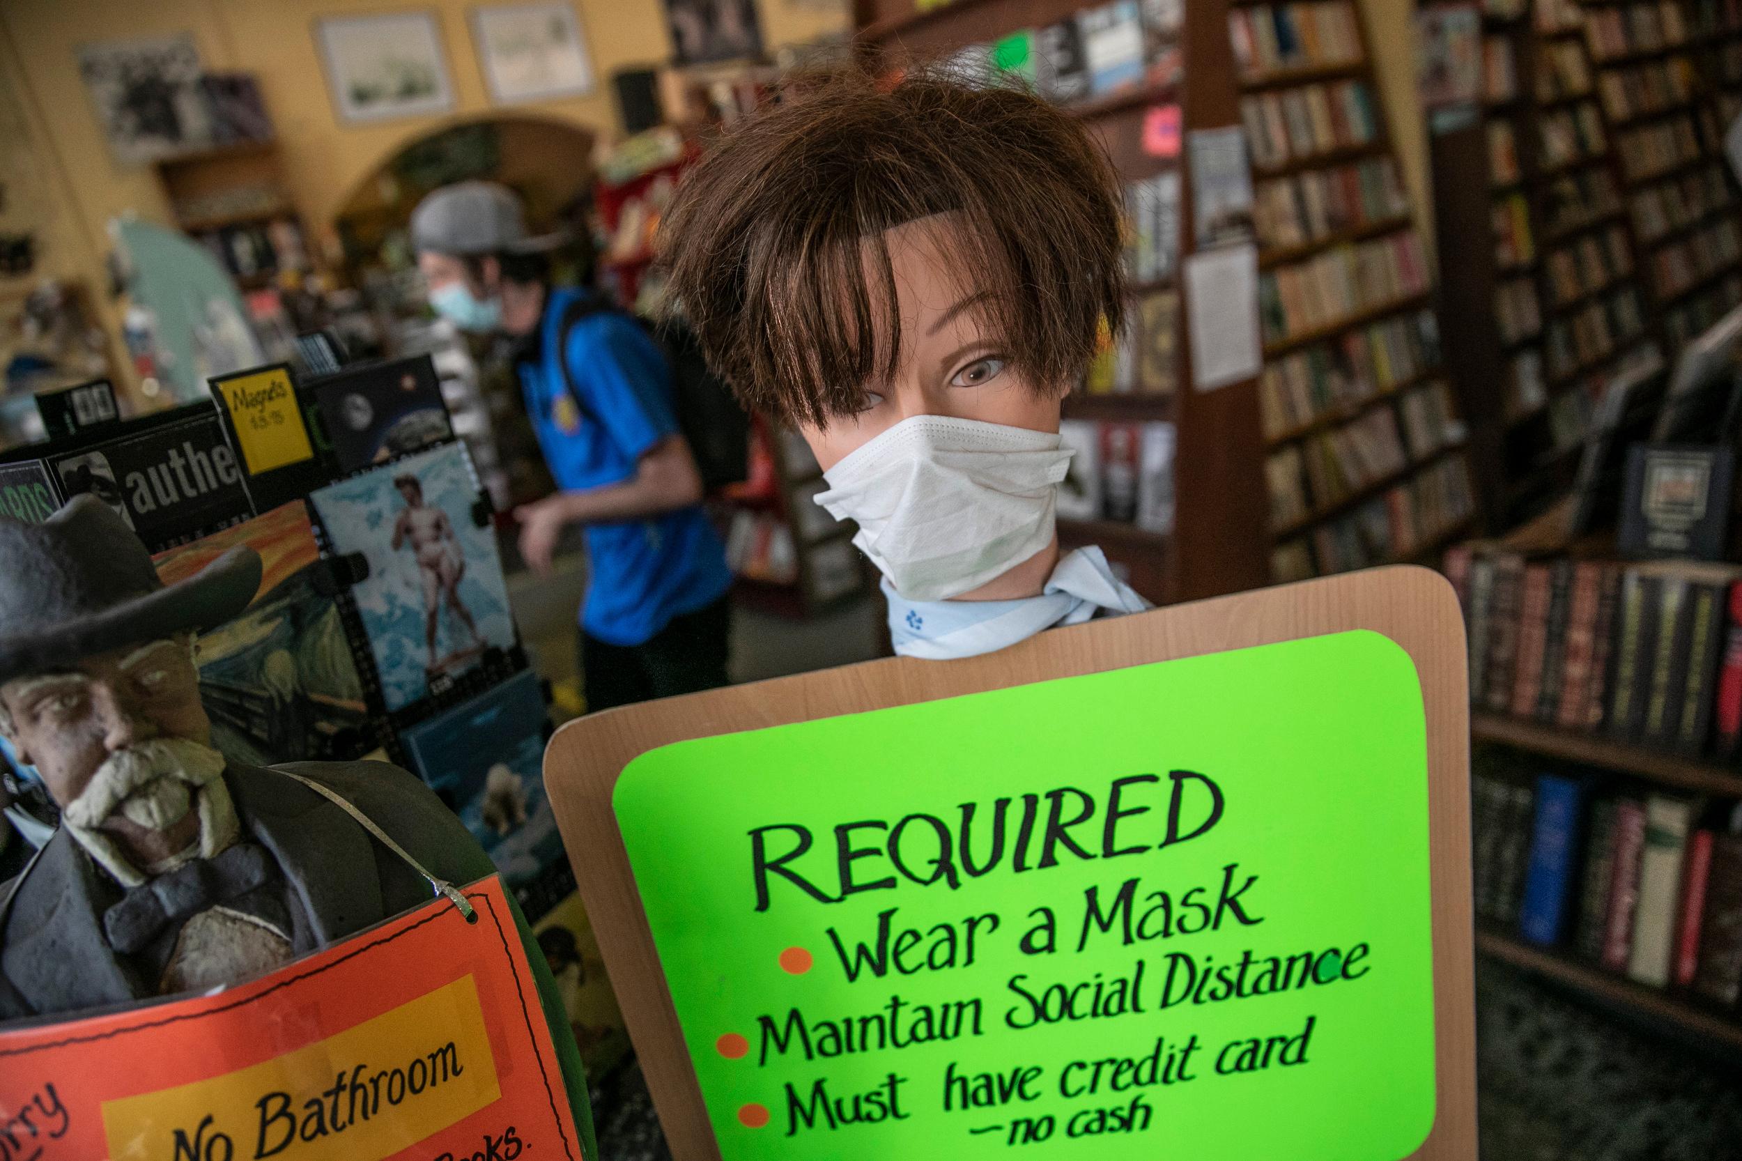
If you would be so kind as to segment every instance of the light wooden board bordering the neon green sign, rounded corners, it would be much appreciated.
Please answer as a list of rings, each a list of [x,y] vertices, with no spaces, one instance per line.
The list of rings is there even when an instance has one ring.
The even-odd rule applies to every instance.
[[[545,786],[672,1156],[718,1161],[719,1147],[611,811],[617,777],[631,760],[693,737],[1350,629],[1381,633],[1409,654],[1427,711],[1435,1116],[1409,1159],[1474,1161],[1475,980],[1463,615],[1446,579],[1416,567],[1092,621],[965,661],[892,657],[624,706],[557,730],[545,751]]]

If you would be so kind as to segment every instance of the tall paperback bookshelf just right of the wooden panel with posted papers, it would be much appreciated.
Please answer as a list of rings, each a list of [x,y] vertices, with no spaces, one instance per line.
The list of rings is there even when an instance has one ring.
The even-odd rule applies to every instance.
[[[1475,518],[1434,289],[1354,2],[1239,0],[1275,580],[1411,560]]]

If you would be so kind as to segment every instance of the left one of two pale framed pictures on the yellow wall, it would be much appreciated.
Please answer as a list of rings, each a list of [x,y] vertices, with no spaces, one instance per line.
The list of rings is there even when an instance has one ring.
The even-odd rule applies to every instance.
[[[446,113],[453,82],[434,12],[334,16],[315,21],[340,120]]]

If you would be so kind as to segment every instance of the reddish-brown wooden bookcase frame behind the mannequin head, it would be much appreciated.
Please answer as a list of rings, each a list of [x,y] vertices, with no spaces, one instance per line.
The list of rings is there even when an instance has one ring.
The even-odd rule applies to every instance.
[[[894,70],[944,59],[970,45],[989,45],[1024,28],[1045,28],[1090,7],[1096,7],[1090,0],[953,0],[920,10],[915,0],[855,0],[855,40],[862,59]],[[1151,108],[1178,105],[1186,136],[1195,129],[1239,124],[1228,0],[1188,5],[1178,47],[1183,61],[1178,80],[1136,84],[1063,106],[1099,138],[1122,181],[1141,181],[1169,169],[1179,173],[1176,268],[1195,248],[1188,162],[1185,155],[1146,152],[1143,122]],[[1131,291],[1136,316],[1144,296],[1178,293],[1178,282],[1174,277],[1146,281]],[[1061,542],[1101,546],[1127,570],[1131,584],[1157,603],[1256,587],[1268,574],[1256,384],[1212,392],[1188,387],[1192,350],[1183,307],[1181,302],[1172,335],[1178,389],[1138,384],[1131,394],[1078,390],[1064,403],[1064,415],[1073,420],[1174,425],[1172,533],[1108,519],[1059,521]],[[1138,342],[1146,342],[1141,333]]]

